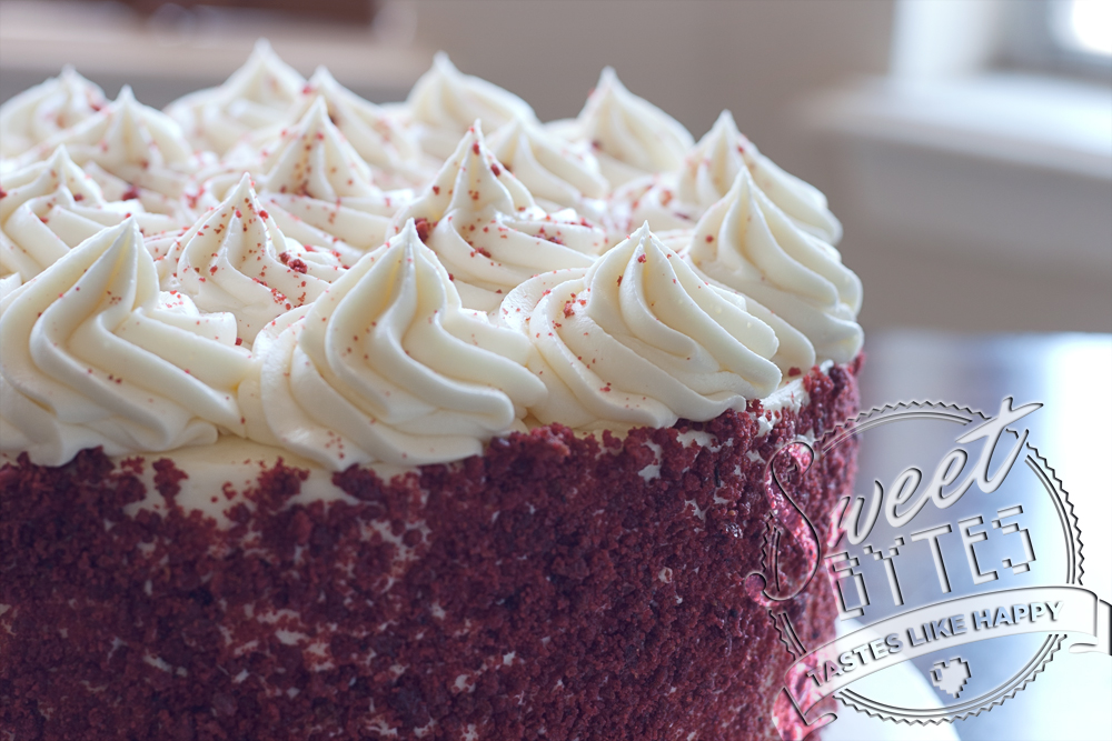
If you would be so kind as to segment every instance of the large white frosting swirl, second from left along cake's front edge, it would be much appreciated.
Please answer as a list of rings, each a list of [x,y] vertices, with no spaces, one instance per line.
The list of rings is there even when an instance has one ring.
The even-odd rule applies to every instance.
[[[334,470],[438,463],[524,429],[525,408],[545,395],[524,367],[528,350],[463,308],[409,220],[316,303],[259,334],[258,380],[240,397],[252,438]]]

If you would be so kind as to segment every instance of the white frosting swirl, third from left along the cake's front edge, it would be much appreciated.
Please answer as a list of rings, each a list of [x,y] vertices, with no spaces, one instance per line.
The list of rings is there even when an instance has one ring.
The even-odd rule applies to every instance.
[[[537,276],[500,321],[533,343],[548,388],[532,408],[572,428],[669,427],[714,419],[772,393],[778,341],[745,298],[701,279],[648,224],[587,269]]]

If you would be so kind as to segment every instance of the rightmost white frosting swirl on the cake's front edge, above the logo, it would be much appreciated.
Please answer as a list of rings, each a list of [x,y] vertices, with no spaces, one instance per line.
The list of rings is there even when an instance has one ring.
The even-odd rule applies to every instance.
[[[818,358],[845,363],[861,351],[861,280],[837,250],[777,208],[748,169],[699,220],[687,256],[802,332]]]

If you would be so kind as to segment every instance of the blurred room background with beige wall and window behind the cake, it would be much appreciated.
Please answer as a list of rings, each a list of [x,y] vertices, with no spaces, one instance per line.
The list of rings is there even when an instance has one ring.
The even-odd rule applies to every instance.
[[[600,69],[824,190],[866,331],[1112,330],[1109,0],[0,0],[0,100],[63,63],[162,107],[257,37],[405,98],[437,49],[575,116]]]

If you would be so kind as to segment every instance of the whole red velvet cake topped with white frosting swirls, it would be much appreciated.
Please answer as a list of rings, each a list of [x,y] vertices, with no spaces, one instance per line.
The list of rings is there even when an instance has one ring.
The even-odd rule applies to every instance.
[[[798,734],[834,602],[751,574],[813,565],[772,467],[820,531],[852,485],[777,452],[856,413],[861,286],[728,113],[260,44],[0,120],[0,738]]]

